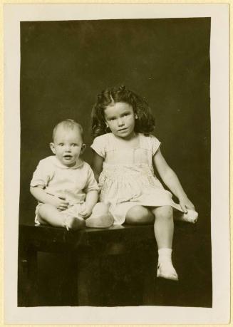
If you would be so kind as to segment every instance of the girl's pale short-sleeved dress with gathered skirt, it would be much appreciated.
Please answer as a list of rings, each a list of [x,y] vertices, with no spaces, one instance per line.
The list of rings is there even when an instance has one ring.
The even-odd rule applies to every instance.
[[[138,133],[137,137],[137,147],[124,147],[113,133],[95,137],[91,145],[104,159],[99,177],[100,202],[110,204],[115,224],[123,224],[128,210],[135,205],[170,205],[182,211],[154,173],[152,157],[160,141],[153,135]]]

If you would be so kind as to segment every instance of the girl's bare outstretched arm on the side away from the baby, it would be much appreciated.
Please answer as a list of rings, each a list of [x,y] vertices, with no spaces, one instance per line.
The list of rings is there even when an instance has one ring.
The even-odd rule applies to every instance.
[[[187,194],[182,188],[180,181],[175,174],[175,172],[171,169],[165,158],[162,156],[160,149],[157,150],[153,157],[153,162],[155,167],[157,168],[157,172],[160,174],[162,181],[169,187],[173,194],[179,199],[180,207],[184,212],[187,212],[187,209],[195,209],[194,205],[188,199]]]

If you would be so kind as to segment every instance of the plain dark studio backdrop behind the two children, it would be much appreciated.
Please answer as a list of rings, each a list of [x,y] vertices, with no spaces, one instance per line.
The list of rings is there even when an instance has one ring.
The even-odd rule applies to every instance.
[[[209,18],[21,22],[19,221],[34,219],[29,184],[38,161],[51,155],[54,125],[65,118],[83,125],[83,157],[91,163],[90,112],[96,95],[123,84],[150,104],[162,153],[200,214],[197,242],[202,243],[196,256],[207,274],[200,306],[209,306],[212,297],[210,23]],[[46,280],[51,259],[44,255],[41,262],[41,280]]]

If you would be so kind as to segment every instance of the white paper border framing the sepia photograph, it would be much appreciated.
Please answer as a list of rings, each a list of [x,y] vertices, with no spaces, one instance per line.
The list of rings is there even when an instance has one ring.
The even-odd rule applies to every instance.
[[[114,7],[114,10],[113,10]],[[212,308],[17,307],[20,176],[20,21],[211,17]],[[13,141],[12,141],[13,140]],[[14,142],[14,155],[11,151]],[[12,187],[14,185],[14,187]],[[221,231],[221,232],[220,232]],[[229,5],[4,5],[4,323],[229,323]]]

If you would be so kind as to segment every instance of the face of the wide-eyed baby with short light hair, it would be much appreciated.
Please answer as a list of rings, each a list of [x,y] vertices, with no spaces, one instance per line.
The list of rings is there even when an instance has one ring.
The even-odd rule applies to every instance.
[[[83,152],[85,145],[78,128],[64,129],[58,127],[54,135],[53,143],[50,144],[51,150],[58,160],[67,167],[76,165],[79,156]]]

